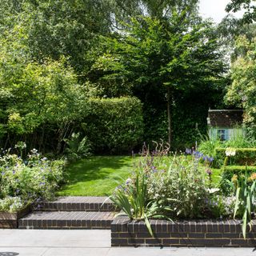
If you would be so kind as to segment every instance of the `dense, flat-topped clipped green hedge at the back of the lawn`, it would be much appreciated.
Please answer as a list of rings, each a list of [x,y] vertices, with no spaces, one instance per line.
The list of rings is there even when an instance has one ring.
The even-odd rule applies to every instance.
[[[142,103],[138,98],[94,98],[82,124],[94,152],[130,152],[142,142]]]

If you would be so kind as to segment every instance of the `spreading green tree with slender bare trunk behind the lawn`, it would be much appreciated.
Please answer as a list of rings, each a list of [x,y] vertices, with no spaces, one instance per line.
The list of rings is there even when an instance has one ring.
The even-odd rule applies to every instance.
[[[132,18],[127,26],[126,33],[103,38],[106,52],[94,63],[92,73],[102,84],[121,82],[137,94],[152,87],[166,94],[171,142],[174,92],[213,83],[224,70],[215,30],[197,16],[186,19],[186,10],[162,20]]]

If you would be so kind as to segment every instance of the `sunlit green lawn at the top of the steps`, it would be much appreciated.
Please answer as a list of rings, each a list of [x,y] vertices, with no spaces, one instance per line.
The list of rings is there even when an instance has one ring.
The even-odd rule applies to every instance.
[[[110,195],[122,178],[130,176],[133,162],[128,156],[97,156],[74,162],[67,166],[67,183],[57,195]]]

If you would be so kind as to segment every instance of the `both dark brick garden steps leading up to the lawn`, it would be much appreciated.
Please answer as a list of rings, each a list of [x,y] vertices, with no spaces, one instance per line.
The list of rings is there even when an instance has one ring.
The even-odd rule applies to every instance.
[[[20,229],[110,229],[114,205],[106,197],[59,197],[20,218]]]

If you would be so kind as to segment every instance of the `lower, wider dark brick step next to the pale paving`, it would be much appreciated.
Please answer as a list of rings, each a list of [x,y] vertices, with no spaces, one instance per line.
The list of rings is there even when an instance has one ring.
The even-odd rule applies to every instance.
[[[110,229],[113,212],[35,211],[20,218],[19,229]]]

